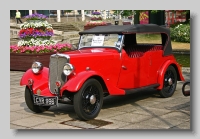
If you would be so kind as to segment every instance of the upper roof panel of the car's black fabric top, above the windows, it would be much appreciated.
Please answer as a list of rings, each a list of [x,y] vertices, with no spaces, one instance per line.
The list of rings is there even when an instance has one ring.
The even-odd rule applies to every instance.
[[[82,34],[127,34],[127,33],[144,33],[144,32],[157,32],[169,34],[169,29],[156,24],[135,24],[135,25],[109,25],[109,26],[97,26],[92,29],[88,29],[82,32]]]

